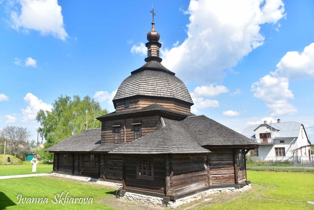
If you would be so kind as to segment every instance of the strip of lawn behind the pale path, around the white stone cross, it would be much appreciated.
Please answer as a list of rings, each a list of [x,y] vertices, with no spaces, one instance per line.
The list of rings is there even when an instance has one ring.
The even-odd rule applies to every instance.
[[[36,172],[32,172],[32,164],[30,162],[23,161],[22,164],[25,165],[0,165],[0,176],[40,174],[52,171],[52,163],[38,163]]]

